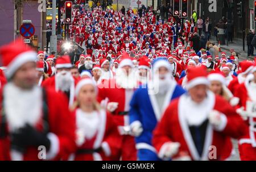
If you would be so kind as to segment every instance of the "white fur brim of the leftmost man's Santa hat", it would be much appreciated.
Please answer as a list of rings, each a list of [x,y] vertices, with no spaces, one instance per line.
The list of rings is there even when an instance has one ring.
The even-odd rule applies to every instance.
[[[24,63],[27,62],[35,62],[36,61],[36,53],[34,51],[26,51],[17,55],[13,61],[7,66],[7,70],[5,72],[7,78],[10,78],[16,70]]]

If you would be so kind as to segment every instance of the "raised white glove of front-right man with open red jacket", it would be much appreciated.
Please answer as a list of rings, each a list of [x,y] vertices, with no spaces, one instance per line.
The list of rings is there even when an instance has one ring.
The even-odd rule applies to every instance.
[[[217,110],[213,110],[209,113],[209,122],[218,130],[224,130],[226,126],[226,117]]]

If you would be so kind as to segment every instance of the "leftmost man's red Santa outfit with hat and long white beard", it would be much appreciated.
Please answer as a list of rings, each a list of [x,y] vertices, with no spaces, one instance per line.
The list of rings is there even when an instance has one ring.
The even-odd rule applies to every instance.
[[[2,47],[0,54],[3,66],[7,67],[8,78],[11,78],[20,66],[36,61],[36,53],[24,45],[21,39]],[[43,90],[36,84],[24,91],[10,81],[1,89],[0,100],[1,161],[35,161],[40,158],[60,160],[75,151],[75,118],[69,113],[67,99],[62,94],[50,89]],[[16,132],[17,130],[19,132]],[[17,143],[23,137],[30,137],[31,140],[26,138],[23,143]],[[46,151],[45,145],[46,157],[40,157],[39,150],[43,148],[39,149],[39,146],[46,137],[49,148]]]

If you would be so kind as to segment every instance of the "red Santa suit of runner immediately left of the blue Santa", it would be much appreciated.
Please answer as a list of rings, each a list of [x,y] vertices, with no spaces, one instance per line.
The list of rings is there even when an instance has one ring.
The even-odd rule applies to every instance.
[[[133,66],[131,59],[126,60],[126,58],[123,58],[119,67],[122,67],[124,64]],[[130,79],[131,76],[133,75],[130,74]],[[134,88],[134,82],[125,81],[123,77],[117,75],[116,79],[105,80],[98,89],[98,101],[105,101],[105,104],[109,102],[107,105],[108,109],[111,106],[115,106],[112,109],[112,115],[122,138],[122,146],[119,153],[115,155],[115,160],[119,160],[120,156],[122,156],[123,161],[135,161],[137,159],[134,137],[129,135],[129,130],[126,130],[129,126],[129,104]]]

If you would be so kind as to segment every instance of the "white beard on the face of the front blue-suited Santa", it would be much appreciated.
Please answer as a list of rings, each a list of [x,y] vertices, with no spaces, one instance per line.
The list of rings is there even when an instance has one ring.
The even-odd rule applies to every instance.
[[[164,79],[160,79],[163,76]],[[168,73],[166,75],[159,75],[159,79],[154,81],[154,88],[158,88],[158,93],[163,95],[171,87],[172,81],[173,79],[171,73]]]

